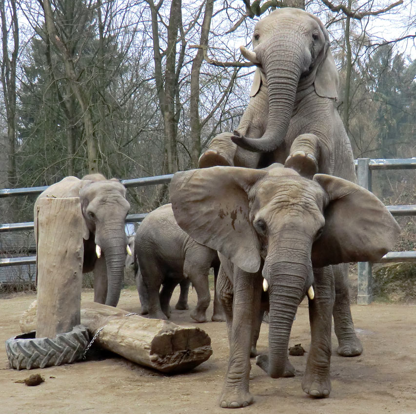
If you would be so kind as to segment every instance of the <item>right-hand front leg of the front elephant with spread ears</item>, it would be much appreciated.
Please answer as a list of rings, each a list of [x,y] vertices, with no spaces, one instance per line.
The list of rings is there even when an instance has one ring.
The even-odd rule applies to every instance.
[[[302,389],[314,397],[327,397],[331,392],[331,325],[335,290],[331,266],[314,270],[315,298],[309,299],[311,348]]]

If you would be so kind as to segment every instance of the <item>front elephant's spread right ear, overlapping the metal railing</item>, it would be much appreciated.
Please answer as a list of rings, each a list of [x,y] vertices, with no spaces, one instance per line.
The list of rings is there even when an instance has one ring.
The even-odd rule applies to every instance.
[[[393,248],[400,227],[370,191],[342,178],[315,174],[326,191],[325,226],[312,246],[316,267],[348,262],[376,262]]]

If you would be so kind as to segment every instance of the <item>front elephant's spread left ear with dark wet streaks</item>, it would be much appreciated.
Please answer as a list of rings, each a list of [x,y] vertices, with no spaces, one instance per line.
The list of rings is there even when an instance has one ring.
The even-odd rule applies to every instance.
[[[170,184],[170,199],[178,225],[242,270],[257,272],[260,251],[247,193],[265,175],[266,171],[239,167],[177,172]]]

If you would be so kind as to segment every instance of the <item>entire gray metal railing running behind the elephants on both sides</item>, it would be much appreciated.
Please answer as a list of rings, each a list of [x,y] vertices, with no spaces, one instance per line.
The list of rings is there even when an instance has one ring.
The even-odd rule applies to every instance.
[[[354,161],[357,167],[357,179],[358,184],[361,187],[367,188],[371,191],[371,172],[373,169],[416,169],[416,158],[404,158],[404,159],[370,159],[370,158],[358,158]],[[135,178],[131,180],[121,180],[121,183],[129,187],[143,187],[157,184],[167,184],[171,181],[173,174],[159,175],[155,177]],[[40,194],[45,187],[31,187],[31,188],[6,188],[0,190],[1,197],[19,196]],[[416,205],[410,206],[387,206],[388,210],[394,216],[406,216],[416,215]],[[138,223],[141,222],[146,213],[141,214],[129,214],[126,217],[126,223]],[[19,230],[33,230],[33,222],[26,223],[12,223],[0,225],[0,233],[6,231],[19,231]],[[416,261],[416,251],[403,251],[403,252],[389,252],[384,255],[380,262],[413,262]],[[13,266],[21,264],[36,263],[36,256],[29,257],[13,257],[0,259],[1,266]],[[358,263],[358,294],[357,303],[359,305],[367,305],[372,300],[371,289],[372,278],[372,263],[359,262]]]

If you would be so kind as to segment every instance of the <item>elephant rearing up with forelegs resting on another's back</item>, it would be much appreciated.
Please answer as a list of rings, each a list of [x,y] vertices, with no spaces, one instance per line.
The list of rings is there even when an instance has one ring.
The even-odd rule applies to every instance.
[[[357,182],[353,153],[335,107],[338,73],[328,33],[315,16],[278,9],[258,21],[254,51],[242,54],[258,66],[247,110],[234,135],[216,136],[199,167],[262,168],[285,164],[312,178],[317,172]],[[248,151],[250,150],[250,151]],[[337,352],[360,355],[348,293],[348,265],[334,268]]]

